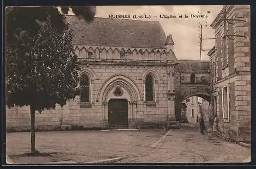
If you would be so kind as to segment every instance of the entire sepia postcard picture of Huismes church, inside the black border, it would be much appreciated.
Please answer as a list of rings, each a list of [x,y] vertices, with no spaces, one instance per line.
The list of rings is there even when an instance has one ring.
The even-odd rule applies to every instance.
[[[251,162],[249,5],[5,8],[6,164]]]

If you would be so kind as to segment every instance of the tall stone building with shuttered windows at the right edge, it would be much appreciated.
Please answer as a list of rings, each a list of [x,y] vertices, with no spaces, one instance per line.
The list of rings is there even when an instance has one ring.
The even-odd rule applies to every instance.
[[[210,58],[211,119],[218,115],[218,133],[250,141],[250,6],[224,6],[211,28],[216,44]]]

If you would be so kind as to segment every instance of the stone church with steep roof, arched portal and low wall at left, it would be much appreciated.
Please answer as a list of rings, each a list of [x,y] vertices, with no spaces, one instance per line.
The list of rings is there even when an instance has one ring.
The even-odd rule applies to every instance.
[[[172,35],[158,21],[66,17],[83,89],[62,108],[36,113],[37,130],[178,125],[178,60]],[[7,130],[29,130],[29,107],[6,112]]]

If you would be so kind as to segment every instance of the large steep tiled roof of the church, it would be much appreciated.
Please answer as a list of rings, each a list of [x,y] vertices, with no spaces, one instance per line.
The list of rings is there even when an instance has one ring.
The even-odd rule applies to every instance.
[[[69,27],[74,30],[74,44],[165,47],[166,36],[158,21],[95,17],[88,23],[77,16],[67,15],[66,18]]]

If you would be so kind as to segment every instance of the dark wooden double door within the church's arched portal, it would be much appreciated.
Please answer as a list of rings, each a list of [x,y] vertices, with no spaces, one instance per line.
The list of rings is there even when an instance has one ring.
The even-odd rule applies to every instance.
[[[111,99],[108,103],[110,128],[128,127],[128,102],[126,99]]]

